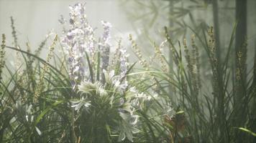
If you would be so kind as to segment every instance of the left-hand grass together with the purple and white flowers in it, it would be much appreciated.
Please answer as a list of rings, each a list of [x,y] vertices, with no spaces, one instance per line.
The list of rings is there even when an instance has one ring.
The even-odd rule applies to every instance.
[[[150,99],[129,83],[127,74],[134,64],[127,62],[126,49],[119,41],[114,55],[110,54],[110,24],[102,21],[104,34],[97,42],[83,15],[84,5],[72,8],[71,28],[61,40],[54,37],[46,59],[40,58],[40,51],[49,37],[34,53],[29,44],[24,51],[11,18],[14,47],[5,45],[3,35],[0,51],[5,77],[1,80],[0,142],[132,142],[140,132],[137,111]],[[80,15],[77,9],[82,9]],[[78,43],[90,44],[91,49],[82,49]],[[56,48],[65,54],[58,56]],[[4,63],[5,49],[19,56],[14,69]]]

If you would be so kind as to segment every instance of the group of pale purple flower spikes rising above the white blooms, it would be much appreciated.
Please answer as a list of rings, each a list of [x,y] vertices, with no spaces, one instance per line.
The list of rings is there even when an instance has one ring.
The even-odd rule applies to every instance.
[[[64,31],[61,44],[65,51],[66,56],[68,56],[68,68],[69,68],[69,76],[71,79],[71,84],[73,89],[76,89],[77,85],[82,81],[89,80],[88,74],[88,62],[86,61],[86,53],[89,56],[89,60],[91,61],[91,66],[93,68],[96,67],[96,63],[94,61],[97,60],[96,53],[100,51],[101,58],[101,79],[100,81],[104,83],[104,73],[103,71],[110,71],[109,67],[109,56],[110,56],[110,48],[111,48],[111,24],[107,21],[101,21],[104,32],[101,35],[100,41],[97,42],[94,35],[93,27],[88,24],[88,20],[86,19],[85,4],[75,4],[74,6],[69,6],[70,8],[70,24],[69,29]],[[99,49],[98,49],[99,47]],[[125,76],[127,72],[127,66],[129,66],[127,62],[128,54],[127,50],[122,47],[119,51],[119,60],[120,61],[120,75],[119,78]],[[126,79],[123,81],[127,83]],[[118,82],[116,82],[118,83]],[[127,84],[122,84],[124,89]]]

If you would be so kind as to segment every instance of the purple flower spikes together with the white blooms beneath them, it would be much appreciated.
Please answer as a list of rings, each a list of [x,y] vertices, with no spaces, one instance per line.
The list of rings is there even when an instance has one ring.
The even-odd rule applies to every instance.
[[[150,98],[129,86],[126,78],[129,54],[121,41],[111,56],[111,24],[101,21],[104,31],[96,38],[85,9],[85,4],[70,6],[70,26],[63,30],[61,41],[68,57],[71,84],[74,90],[78,89],[77,97],[80,97],[73,97],[71,107],[87,114],[85,118],[103,120],[103,127],[107,124],[112,133],[119,133],[119,141],[126,137],[132,141],[132,134],[138,132],[136,110]],[[63,17],[60,23],[65,23]],[[97,117],[93,113],[97,113]]]

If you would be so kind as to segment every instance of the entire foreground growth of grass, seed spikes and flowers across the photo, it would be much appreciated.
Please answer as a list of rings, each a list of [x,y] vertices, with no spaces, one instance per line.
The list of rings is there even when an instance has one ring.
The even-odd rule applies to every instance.
[[[3,34],[0,49],[0,142],[256,142],[256,58],[248,69],[236,24],[222,53],[212,26],[190,28],[191,42],[178,44],[165,27],[150,61],[129,35],[137,56],[129,63],[122,40],[111,45],[111,24],[101,21],[97,37],[84,12],[70,6],[63,34],[48,34],[35,52],[19,46],[11,18],[14,46]],[[16,52],[15,68],[6,50]]]

